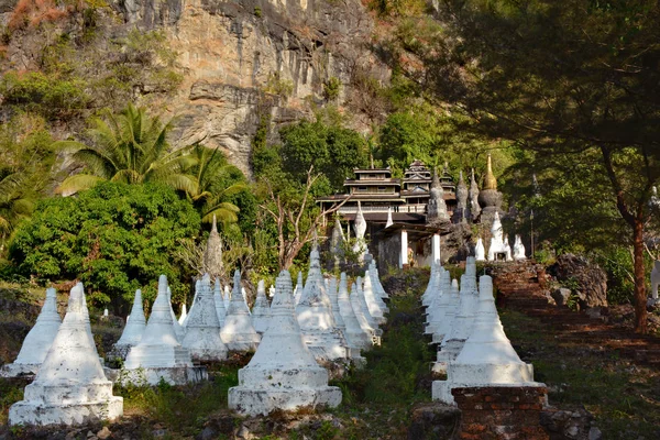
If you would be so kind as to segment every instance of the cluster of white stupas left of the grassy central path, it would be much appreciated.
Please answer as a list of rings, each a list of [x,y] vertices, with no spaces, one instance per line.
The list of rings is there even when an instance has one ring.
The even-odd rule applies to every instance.
[[[326,289],[316,249],[311,256],[308,280],[295,308],[288,272],[278,277],[263,340],[250,364],[240,371],[240,385],[230,391],[230,407],[240,413],[268,414],[274,409],[339,405],[341,392],[328,387],[328,373],[319,362],[359,359],[360,349],[371,346],[373,336],[380,332],[378,324],[384,322],[383,314],[387,311],[383,298],[387,295],[377,280],[375,267],[371,272],[374,275],[365,274],[363,288],[360,280],[354,283],[353,295],[349,298],[345,274],[341,276],[339,292],[337,280],[332,278]],[[373,278],[376,279],[374,285],[378,286],[375,289],[372,288]],[[243,310],[238,316],[249,317],[239,288],[240,274],[237,273],[234,295],[222,329],[244,329],[244,320],[239,322],[232,318],[234,309]],[[201,356],[218,355],[219,350],[222,351],[218,348],[223,346],[223,333],[210,292],[210,282],[205,277],[186,323],[183,341],[188,343],[188,349],[177,338],[175,322],[178,322],[174,319],[167,279],[161,276],[148,322],[140,341],[130,348],[120,381],[154,384],[164,378],[180,384],[206,377],[205,369],[193,366],[191,352]],[[140,317],[144,324],[142,302],[138,300],[129,323],[140,321]],[[131,328],[135,326],[127,326],[124,333]],[[55,334],[51,343],[40,336],[46,330]],[[232,334],[244,333],[234,331]],[[251,343],[237,339],[230,340],[239,343],[241,350]],[[38,353],[44,349],[45,355],[40,360]],[[112,384],[103,373],[81,284],[72,289],[62,324],[55,290],[48,289],[37,323],[21,349],[21,353],[26,355],[28,352],[35,356],[30,360],[32,364],[23,366],[36,366],[37,372],[25,389],[24,400],[11,407],[11,425],[76,425],[121,416],[122,399],[112,396]],[[12,364],[13,371],[25,359],[20,354]],[[6,373],[12,369],[7,369]]]

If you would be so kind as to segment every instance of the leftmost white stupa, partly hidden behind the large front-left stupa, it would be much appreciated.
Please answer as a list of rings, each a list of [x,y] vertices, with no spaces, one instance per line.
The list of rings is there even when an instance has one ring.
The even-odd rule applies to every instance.
[[[46,359],[48,349],[57,336],[62,319],[57,314],[57,293],[54,288],[46,289],[46,299],[34,327],[30,330],[16,360],[2,366],[0,376],[15,377],[21,374],[36,374]]]

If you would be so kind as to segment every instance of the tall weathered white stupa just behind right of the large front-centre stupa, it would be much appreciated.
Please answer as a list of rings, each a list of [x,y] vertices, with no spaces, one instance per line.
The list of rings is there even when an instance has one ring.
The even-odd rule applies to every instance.
[[[332,306],[326,293],[319,260],[319,251],[315,243],[309,256],[305,289],[296,305],[302,340],[319,362],[348,359],[350,352],[332,317]]]

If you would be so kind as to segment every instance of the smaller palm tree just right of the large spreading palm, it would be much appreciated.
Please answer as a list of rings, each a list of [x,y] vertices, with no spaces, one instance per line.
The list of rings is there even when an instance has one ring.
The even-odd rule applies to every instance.
[[[235,222],[239,207],[226,199],[248,188],[241,170],[228,164],[218,150],[199,143],[193,145],[189,163],[189,173],[195,183],[188,196],[200,212],[201,220],[210,222],[216,216],[222,223]]]

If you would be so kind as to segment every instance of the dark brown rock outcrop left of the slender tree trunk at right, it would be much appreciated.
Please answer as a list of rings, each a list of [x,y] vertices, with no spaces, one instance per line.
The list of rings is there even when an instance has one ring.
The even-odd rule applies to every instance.
[[[571,279],[578,283],[575,294],[581,308],[607,307],[607,274],[584,256],[562,254],[548,273],[560,282]]]

